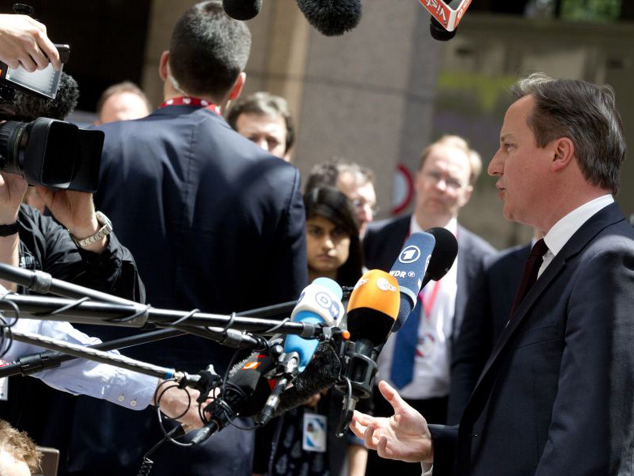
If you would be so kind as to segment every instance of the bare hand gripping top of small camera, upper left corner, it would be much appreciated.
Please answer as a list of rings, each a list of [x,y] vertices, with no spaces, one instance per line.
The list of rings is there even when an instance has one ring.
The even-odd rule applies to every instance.
[[[60,69],[60,54],[46,36],[46,26],[27,15],[0,15],[0,60],[33,72],[49,61]]]

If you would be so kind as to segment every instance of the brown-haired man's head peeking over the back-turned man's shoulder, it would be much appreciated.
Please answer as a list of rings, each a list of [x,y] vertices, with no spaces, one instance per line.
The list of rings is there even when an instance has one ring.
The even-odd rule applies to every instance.
[[[288,103],[281,96],[259,91],[239,98],[227,114],[227,122],[240,135],[290,162],[295,126]]]

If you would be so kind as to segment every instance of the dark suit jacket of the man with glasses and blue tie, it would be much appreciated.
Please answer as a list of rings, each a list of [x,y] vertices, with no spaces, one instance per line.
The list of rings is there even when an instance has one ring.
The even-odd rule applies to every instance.
[[[396,261],[408,234],[411,215],[370,223],[363,238],[365,265],[370,269],[389,271]],[[478,235],[458,225],[458,292],[451,341],[460,335],[467,299],[475,287],[475,278],[481,273],[482,260],[495,249]]]

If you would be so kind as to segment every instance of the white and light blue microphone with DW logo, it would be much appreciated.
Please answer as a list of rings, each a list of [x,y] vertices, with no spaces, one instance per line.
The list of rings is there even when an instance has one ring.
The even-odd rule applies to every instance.
[[[341,286],[337,282],[329,278],[317,278],[302,291],[290,319],[293,322],[337,326],[344,315],[342,296]],[[285,354],[297,352],[299,356],[297,370],[302,372],[311,361],[318,343],[316,339],[304,339],[290,334],[286,336],[284,352]]]

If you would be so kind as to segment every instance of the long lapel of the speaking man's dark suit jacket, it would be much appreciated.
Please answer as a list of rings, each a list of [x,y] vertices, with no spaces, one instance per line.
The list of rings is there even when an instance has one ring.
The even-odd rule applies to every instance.
[[[566,267],[566,262],[569,261],[573,256],[577,255],[585,246],[590,242],[601,230],[605,227],[612,225],[618,221],[624,220],[623,213],[621,213],[618,205],[616,203],[611,204],[604,209],[598,211],[595,215],[593,215],[586,223],[584,223],[579,230],[569,239],[564,248],[555,256],[553,261],[548,265],[543,274],[539,277],[539,279],[533,285],[533,288],[529,290],[529,292],[522,300],[522,303],[517,311],[512,316],[512,319],[508,321],[507,326],[504,331],[500,334],[500,338],[495,343],[493,347],[493,351],[491,352],[491,356],[489,360],[486,362],[484,369],[475,384],[474,391],[472,393],[471,398],[469,399],[469,403],[467,404],[467,409],[465,409],[465,414],[470,406],[472,406],[472,401],[475,400],[475,396],[479,392],[483,392],[488,387],[484,385],[485,380],[489,380],[488,374],[491,372],[495,372],[495,364],[498,358],[500,357],[501,352],[507,346],[508,341],[515,333],[517,327],[526,319],[529,310],[533,307],[534,302],[541,296],[541,294],[548,288],[550,283],[557,277],[562,270]],[[493,368],[492,368],[493,367]],[[489,391],[491,390],[488,387]]]

